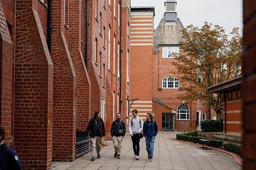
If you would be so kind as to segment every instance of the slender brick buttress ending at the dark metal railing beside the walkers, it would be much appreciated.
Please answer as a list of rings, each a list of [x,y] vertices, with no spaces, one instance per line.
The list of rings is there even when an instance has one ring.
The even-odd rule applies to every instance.
[[[84,3],[84,1],[82,1]],[[85,68],[84,56],[81,52],[82,30],[82,3],[78,0],[69,0],[69,32],[68,47],[76,72],[76,129],[85,131],[90,120],[91,84]],[[85,26],[85,24],[83,25]],[[85,37],[85,35],[83,36]]]

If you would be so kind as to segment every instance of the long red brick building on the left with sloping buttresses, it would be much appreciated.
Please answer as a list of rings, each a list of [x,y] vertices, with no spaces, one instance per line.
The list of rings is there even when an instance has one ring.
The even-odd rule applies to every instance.
[[[0,124],[23,166],[75,160],[97,110],[110,139],[130,95],[130,0],[2,0],[0,15]]]

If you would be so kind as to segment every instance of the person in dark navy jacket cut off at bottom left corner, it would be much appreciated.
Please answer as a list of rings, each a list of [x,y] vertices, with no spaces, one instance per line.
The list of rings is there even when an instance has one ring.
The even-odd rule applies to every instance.
[[[13,147],[4,142],[5,131],[0,125],[0,170],[22,170],[20,159]]]

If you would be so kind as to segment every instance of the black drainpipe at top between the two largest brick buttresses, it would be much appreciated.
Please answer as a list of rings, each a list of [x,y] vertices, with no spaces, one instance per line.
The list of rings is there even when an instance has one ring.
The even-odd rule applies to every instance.
[[[52,0],[47,3],[47,45],[51,55],[52,51]]]

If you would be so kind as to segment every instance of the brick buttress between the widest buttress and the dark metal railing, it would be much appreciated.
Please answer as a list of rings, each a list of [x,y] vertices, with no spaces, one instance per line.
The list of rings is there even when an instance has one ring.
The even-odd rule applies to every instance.
[[[65,0],[52,0],[53,160],[75,160],[76,74],[65,38]]]

